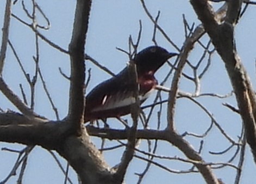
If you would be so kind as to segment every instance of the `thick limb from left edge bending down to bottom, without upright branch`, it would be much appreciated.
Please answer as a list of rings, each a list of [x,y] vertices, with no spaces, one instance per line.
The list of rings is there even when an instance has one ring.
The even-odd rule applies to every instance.
[[[86,132],[72,135],[70,122],[35,122],[18,113],[0,114],[0,141],[54,149],[76,170],[83,183],[116,183]]]

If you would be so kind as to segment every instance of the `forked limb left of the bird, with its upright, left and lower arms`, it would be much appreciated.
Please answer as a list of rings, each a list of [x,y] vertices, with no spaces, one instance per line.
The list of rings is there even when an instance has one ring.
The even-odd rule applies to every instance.
[[[38,121],[37,116],[13,93],[0,77],[0,90],[24,114],[0,114],[0,141],[38,145],[54,149],[65,157],[83,183],[116,183],[103,156],[90,142],[83,128],[84,114],[84,45],[88,30],[91,1],[77,0],[71,58],[70,107],[63,121]]]

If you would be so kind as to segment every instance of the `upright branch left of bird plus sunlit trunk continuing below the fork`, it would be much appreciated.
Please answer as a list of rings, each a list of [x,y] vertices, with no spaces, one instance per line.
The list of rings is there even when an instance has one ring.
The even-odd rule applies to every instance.
[[[114,183],[107,163],[93,146],[84,129],[84,47],[88,31],[91,0],[77,0],[73,33],[69,45],[71,58],[71,83],[68,122],[71,131],[76,132],[64,140],[63,147],[57,151],[63,155],[76,170],[83,183]],[[73,132],[73,131],[72,131]]]

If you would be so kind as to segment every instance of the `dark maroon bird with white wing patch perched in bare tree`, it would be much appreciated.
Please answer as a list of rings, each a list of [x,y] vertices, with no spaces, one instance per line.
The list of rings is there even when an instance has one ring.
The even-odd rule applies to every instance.
[[[134,57],[139,84],[139,100],[143,103],[158,85],[155,72],[169,58],[178,55],[159,46],[141,50]],[[133,97],[133,83],[129,80],[128,67],[117,75],[99,83],[85,97],[84,123],[109,117],[130,114],[130,105],[136,103]]]

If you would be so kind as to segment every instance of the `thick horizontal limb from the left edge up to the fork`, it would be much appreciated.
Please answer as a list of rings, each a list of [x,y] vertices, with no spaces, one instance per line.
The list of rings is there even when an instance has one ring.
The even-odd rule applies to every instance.
[[[18,113],[0,114],[0,141],[4,142],[54,149],[63,141],[67,128],[64,123],[33,121]]]

